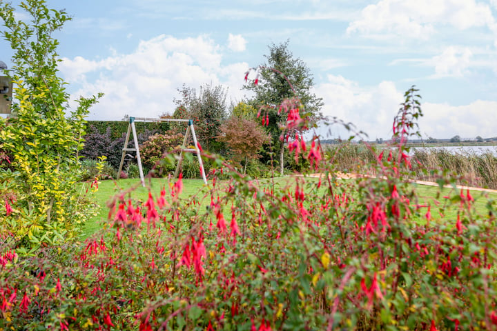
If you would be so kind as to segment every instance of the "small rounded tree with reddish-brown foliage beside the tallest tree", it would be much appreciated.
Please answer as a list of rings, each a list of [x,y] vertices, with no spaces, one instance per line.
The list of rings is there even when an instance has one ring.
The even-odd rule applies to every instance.
[[[258,159],[262,145],[271,139],[255,121],[242,117],[230,117],[220,129],[217,140],[228,145],[234,161],[244,161],[244,174],[249,159]]]

